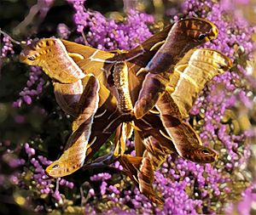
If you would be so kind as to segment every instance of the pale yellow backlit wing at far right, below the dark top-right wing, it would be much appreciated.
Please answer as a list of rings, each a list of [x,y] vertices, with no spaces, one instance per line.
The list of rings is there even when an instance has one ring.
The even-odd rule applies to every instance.
[[[174,88],[172,99],[182,118],[189,116],[189,111],[207,82],[229,70],[231,65],[227,56],[213,49],[197,48],[185,54],[170,77],[170,86]]]

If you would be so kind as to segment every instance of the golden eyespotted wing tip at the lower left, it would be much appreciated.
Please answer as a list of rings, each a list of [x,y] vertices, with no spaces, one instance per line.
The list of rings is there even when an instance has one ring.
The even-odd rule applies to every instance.
[[[65,161],[54,161],[46,169],[45,172],[52,178],[60,178],[74,173],[81,165],[73,164]]]

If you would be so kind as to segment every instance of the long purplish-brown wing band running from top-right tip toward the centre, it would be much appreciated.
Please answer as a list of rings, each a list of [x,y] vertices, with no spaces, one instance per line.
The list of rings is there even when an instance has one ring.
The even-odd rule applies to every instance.
[[[164,93],[166,83],[169,82],[178,60],[182,59],[189,49],[212,40],[217,35],[218,28],[203,19],[179,20],[172,26],[163,45],[143,68],[148,74],[134,107],[137,118],[141,118],[151,110]]]

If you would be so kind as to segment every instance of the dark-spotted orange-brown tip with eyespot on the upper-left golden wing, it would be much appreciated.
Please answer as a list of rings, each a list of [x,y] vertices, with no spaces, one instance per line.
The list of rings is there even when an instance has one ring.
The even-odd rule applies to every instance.
[[[20,53],[20,61],[27,65],[38,65],[42,56],[50,52],[50,47],[54,42],[52,38],[34,40],[23,48]]]

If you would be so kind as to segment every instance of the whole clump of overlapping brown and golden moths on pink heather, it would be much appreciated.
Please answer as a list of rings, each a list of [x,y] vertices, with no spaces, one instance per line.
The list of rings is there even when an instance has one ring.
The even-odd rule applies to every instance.
[[[160,203],[152,189],[153,171],[168,154],[174,151],[191,161],[214,161],[216,152],[201,146],[201,139],[183,119],[205,83],[230,67],[230,61],[214,50],[189,51],[217,34],[211,22],[192,18],[167,26],[129,52],[105,52],[57,38],[26,46],[20,61],[41,66],[52,78],[58,104],[74,116],[76,125],[63,155],[47,167],[47,173],[55,178],[73,173],[116,131],[113,156],[127,165],[126,173],[140,190]],[[84,99],[87,90],[96,92],[92,87],[96,80],[97,93]],[[187,87],[193,90],[186,91]],[[93,101],[92,108],[83,108],[87,101]],[[88,117],[91,121],[86,124]],[[124,154],[125,139],[133,129],[136,158]]]

